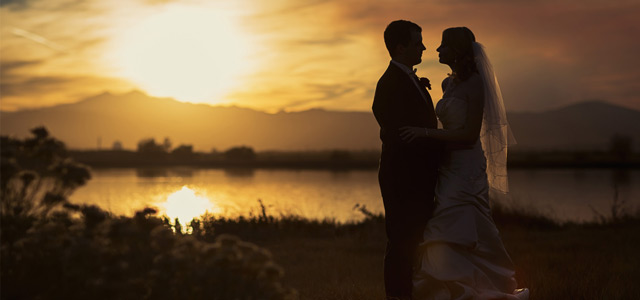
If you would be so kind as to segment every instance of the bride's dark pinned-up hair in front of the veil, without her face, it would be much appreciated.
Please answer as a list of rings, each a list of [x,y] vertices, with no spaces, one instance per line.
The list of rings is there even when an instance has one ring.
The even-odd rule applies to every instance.
[[[476,37],[469,28],[447,28],[442,33],[442,39],[447,40],[456,55],[453,73],[450,74],[454,81],[465,81],[473,73],[478,73],[476,62],[473,59],[473,43],[476,41]]]

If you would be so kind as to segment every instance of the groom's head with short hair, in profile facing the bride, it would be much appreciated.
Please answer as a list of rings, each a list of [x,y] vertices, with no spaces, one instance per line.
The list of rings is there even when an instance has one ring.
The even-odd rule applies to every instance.
[[[384,43],[389,55],[405,65],[417,65],[422,61],[422,28],[410,21],[397,20],[389,23],[384,31]]]

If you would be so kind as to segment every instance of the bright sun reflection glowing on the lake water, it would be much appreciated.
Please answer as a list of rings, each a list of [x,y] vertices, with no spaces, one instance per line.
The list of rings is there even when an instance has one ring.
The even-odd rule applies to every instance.
[[[187,186],[183,186],[179,191],[169,195],[162,206],[170,220],[178,218],[183,224],[206,212],[215,213],[219,210],[209,198],[197,195]]]

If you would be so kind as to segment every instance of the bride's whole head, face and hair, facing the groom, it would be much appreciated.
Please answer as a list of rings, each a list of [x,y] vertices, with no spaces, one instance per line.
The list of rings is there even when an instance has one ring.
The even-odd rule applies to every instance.
[[[477,73],[473,59],[473,42],[476,37],[467,27],[447,28],[442,32],[442,42],[436,51],[440,63],[449,65],[450,74],[456,81],[465,81],[473,73]]]

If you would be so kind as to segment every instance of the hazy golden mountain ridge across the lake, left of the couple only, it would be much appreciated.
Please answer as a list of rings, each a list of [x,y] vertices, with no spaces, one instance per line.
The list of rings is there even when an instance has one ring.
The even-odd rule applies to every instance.
[[[268,114],[247,108],[214,107],[149,97],[134,91],[103,93],[77,103],[35,110],[2,112],[0,132],[25,136],[36,125],[70,148],[102,148],[121,141],[135,149],[139,140],[169,137],[174,146],[199,151],[238,145],[257,150],[376,149],[377,123],[371,114],[309,110]]]

